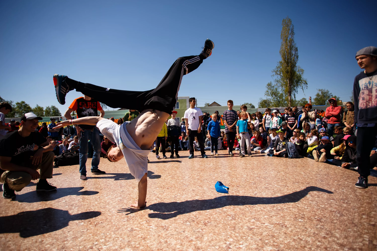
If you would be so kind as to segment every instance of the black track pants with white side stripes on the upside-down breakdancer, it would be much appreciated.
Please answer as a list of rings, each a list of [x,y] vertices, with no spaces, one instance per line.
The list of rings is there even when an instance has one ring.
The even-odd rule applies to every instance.
[[[69,78],[66,81],[70,86],[74,86],[76,91],[97,99],[112,108],[126,108],[140,112],[145,109],[154,109],[170,114],[177,102],[183,75],[198,68],[203,59],[203,55],[178,58],[158,86],[149,91],[116,90],[84,84]]]

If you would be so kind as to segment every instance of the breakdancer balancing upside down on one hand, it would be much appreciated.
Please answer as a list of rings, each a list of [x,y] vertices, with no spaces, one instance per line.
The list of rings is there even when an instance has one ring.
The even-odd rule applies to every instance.
[[[68,91],[76,89],[86,96],[112,108],[126,108],[141,111],[136,119],[117,125],[102,117],[82,117],[57,123],[55,128],[72,124],[96,125],[101,133],[116,143],[108,151],[110,161],[125,158],[130,173],[139,182],[139,199],[131,207],[145,207],[147,196],[147,156],[150,147],[161,131],[163,123],[170,116],[176,105],[182,76],[199,67],[203,59],[208,58],[214,44],[205,40],[202,52],[198,56],[178,58],[167,71],[158,86],[149,91],[124,91],[92,84],[84,84],[64,75],[54,75],[54,85],[58,102],[65,103]],[[55,129],[54,128],[54,129]]]

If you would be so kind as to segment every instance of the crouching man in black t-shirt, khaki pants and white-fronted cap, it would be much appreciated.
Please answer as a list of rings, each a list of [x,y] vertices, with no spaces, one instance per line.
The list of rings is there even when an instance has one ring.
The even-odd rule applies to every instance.
[[[39,181],[37,191],[53,191],[46,179],[52,178],[54,147],[35,129],[38,120],[34,113],[26,113],[21,118],[21,127],[0,140],[0,168],[3,182],[3,198],[15,198],[14,191],[21,191],[31,180]],[[37,171],[40,169],[40,173]]]

